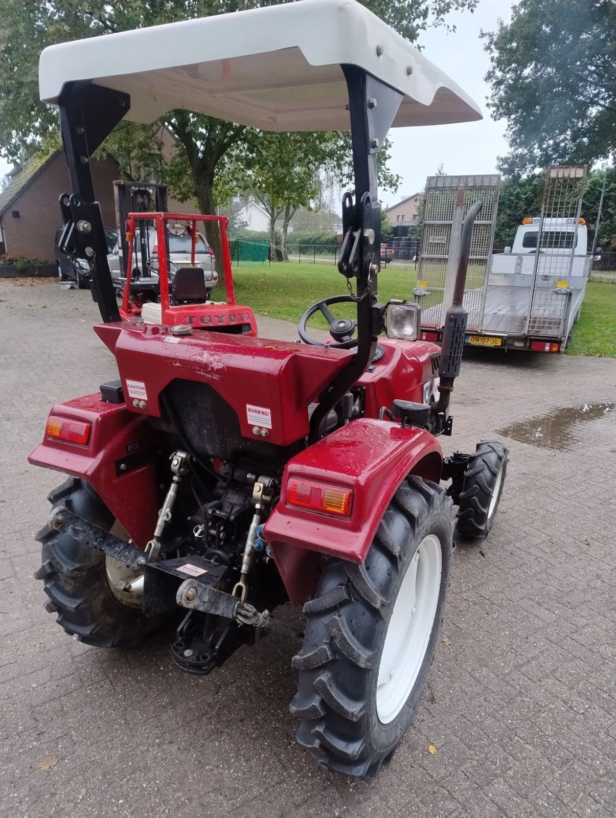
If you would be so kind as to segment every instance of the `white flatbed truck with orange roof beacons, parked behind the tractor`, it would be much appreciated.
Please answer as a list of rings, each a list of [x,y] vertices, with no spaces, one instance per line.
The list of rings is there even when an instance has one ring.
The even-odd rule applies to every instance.
[[[550,353],[566,348],[592,263],[580,217],[586,171],[585,165],[547,169],[540,215],[524,218],[512,247],[490,255],[483,286],[470,281],[465,290],[465,344]],[[440,338],[445,300],[422,312],[426,339]]]

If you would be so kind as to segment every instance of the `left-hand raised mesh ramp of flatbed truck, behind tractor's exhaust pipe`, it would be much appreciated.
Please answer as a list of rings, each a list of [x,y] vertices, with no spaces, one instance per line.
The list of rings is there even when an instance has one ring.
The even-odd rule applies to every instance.
[[[483,209],[474,222],[464,295],[468,326],[481,326],[500,183],[497,174],[428,177],[416,290],[423,325],[443,326],[452,298],[452,271],[455,273],[461,223],[470,207],[481,199]]]

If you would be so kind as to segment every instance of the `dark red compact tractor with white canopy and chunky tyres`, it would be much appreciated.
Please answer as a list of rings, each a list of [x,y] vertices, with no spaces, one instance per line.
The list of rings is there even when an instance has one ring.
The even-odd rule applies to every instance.
[[[203,674],[252,643],[277,605],[303,605],[290,704],[299,743],[332,770],[374,775],[420,703],[454,524],[487,536],[507,461],[500,443],[446,458],[438,444],[452,434],[481,205],[466,217],[442,348],[418,341],[419,307],[377,299],[376,155],[392,124],[479,111],[362,5],[328,0],[54,46],[41,94],[60,106],[73,185],[62,249],[92,266],[94,330],[119,374],[54,407],[29,458],[68,475],[38,534],[47,609],[101,647],[137,645],[182,613],[173,660]],[[191,324],[196,273],[193,294],[176,292],[153,322],[120,315],[88,157],[121,119],[172,108],[278,130],[350,124],[355,189],[339,260],[348,294],[304,313],[304,344]],[[164,298],[164,240],[159,254]],[[356,320],[335,317],[338,302]],[[309,334],[316,312],[330,343]]]

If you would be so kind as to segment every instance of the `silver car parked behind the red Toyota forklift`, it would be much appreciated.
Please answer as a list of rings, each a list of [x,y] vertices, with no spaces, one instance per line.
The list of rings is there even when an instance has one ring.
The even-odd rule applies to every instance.
[[[140,244],[141,244],[141,236],[140,232],[137,230],[135,232],[135,263],[134,267],[139,270],[141,273],[141,253],[140,253]],[[156,271],[158,270],[158,244],[157,244],[157,237],[154,230],[149,231],[148,233],[148,246],[149,246],[149,256],[150,256],[150,274],[151,276],[158,277],[156,275]],[[111,278],[114,281],[119,282],[120,279],[124,278],[124,273],[122,272],[122,261],[120,258],[120,249],[119,244],[116,240],[115,247],[110,252],[110,255],[107,257],[109,261],[109,267],[111,271]],[[173,233],[169,233],[169,261],[170,267],[169,270],[169,281],[173,280],[173,275],[178,270],[178,267],[192,267],[193,264],[191,263],[191,236],[188,233],[182,234],[182,236],[175,236]],[[201,233],[197,233],[197,242],[195,245],[195,267],[202,267],[205,272],[205,284],[206,284],[206,291],[208,294],[208,298],[212,294],[212,290],[218,284],[218,272],[215,269],[216,259],[214,258],[214,251],[209,246],[208,242],[205,240],[205,236]],[[133,269],[134,269],[133,267]]]

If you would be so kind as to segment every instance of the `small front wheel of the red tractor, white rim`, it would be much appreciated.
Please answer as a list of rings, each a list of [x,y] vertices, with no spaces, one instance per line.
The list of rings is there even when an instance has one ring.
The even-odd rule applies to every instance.
[[[456,531],[465,539],[483,540],[497,515],[509,449],[490,440],[483,440],[475,449],[462,480]]]

